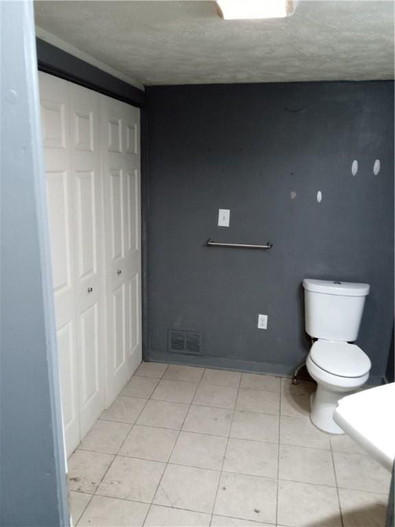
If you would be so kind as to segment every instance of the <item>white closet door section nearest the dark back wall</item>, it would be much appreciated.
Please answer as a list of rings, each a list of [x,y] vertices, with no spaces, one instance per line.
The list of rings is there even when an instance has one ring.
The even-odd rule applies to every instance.
[[[108,368],[106,404],[110,404],[141,361],[139,250],[139,110],[101,96],[101,137],[106,224]],[[131,280],[134,279],[134,293]],[[132,338],[132,335],[135,338]]]

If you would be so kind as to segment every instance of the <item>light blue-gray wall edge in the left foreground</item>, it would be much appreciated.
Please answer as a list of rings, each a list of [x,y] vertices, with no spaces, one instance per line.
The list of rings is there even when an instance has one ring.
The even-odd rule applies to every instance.
[[[0,525],[69,525],[30,1],[0,2]]]

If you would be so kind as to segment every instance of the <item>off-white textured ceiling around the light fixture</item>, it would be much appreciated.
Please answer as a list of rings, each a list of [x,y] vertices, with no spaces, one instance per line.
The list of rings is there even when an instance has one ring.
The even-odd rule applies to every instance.
[[[147,85],[394,78],[392,1],[302,0],[266,21],[200,0],[34,4],[39,27]]]

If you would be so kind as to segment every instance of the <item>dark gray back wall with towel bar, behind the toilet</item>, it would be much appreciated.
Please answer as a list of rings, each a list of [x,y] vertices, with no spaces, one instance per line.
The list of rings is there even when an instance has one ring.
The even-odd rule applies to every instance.
[[[371,285],[357,343],[383,375],[394,320],[394,84],[162,86],[147,98],[147,358],[291,373],[309,350],[302,279],[339,279]],[[230,209],[230,228],[217,226],[219,208]],[[274,247],[206,248],[209,237]],[[204,331],[204,357],[168,355],[169,328]]]

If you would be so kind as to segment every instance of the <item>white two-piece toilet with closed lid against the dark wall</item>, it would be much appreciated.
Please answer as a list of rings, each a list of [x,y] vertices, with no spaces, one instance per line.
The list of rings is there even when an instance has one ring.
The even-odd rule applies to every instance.
[[[317,382],[311,400],[311,421],[325,432],[344,434],[333,412],[338,399],[362,386],[372,366],[355,344],[369,294],[367,283],[304,279],[305,329],[315,340],[306,366]]]

